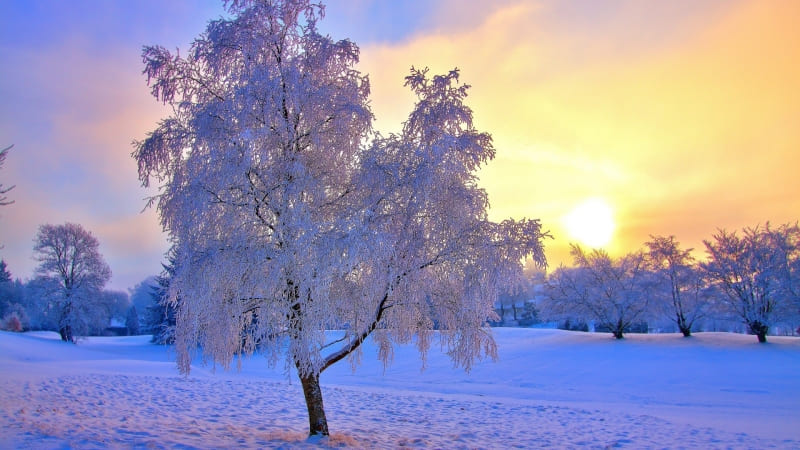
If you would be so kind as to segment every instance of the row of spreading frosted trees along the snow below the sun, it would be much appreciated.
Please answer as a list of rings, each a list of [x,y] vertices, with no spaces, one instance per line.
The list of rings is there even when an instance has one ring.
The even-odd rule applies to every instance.
[[[797,223],[719,230],[704,245],[704,260],[674,236],[651,236],[643,250],[618,258],[572,245],[574,266],[559,267],[540,284],[539,313],[592,321],[618,339],[647,320],[668,319],[688,337],[703,320],[718,318],[738,320],[766,342],[773,326],[797,322]]]

